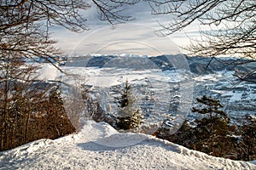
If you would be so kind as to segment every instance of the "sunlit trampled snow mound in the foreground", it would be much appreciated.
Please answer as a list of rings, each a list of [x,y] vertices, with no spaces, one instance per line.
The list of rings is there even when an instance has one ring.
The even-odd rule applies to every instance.
[[[41,139],[0,152],[0,169],[256,169],[188,150],[166,140],[118,133],[107,123],[85,122],[79,133]]]

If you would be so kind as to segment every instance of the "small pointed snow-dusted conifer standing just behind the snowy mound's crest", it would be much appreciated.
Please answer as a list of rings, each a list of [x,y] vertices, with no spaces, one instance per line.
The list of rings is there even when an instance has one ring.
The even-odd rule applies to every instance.
[[[138,127],[143,120],[140,109],[135,106],[136,99],[132,96],[131,85],[125,82],[123,94],[119,99],[119,116],[117,127],[120,129],[131,129]]]

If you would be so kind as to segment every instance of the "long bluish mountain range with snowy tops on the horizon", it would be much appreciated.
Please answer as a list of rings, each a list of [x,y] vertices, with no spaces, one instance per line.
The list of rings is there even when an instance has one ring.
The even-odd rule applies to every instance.
[[[144,61],[144,62],[143,62]],[[147,65],[145,64],[147,61]],[[209,74],[215,71],[246,71],[250,68],[255,68],[255,62],[247,63],[249,59],[230,58],[208,58],[201,56],[187,56],[185,54],[165,54],[160,56],[135,55],[135,54],[90,54],[76,56],[67,59],[67,65],[85,66],[85,67],[119,67],[125,68],[135,65],[141,65],[145,69],[155,68],[162,71],[177,69],[179,65],[189,65],[188,69],[195,74]],[[122,65],[119,65],[119,64]],[[178,64],[178,65],[177,65]],[[183,66],[185,68],[185,66]]]

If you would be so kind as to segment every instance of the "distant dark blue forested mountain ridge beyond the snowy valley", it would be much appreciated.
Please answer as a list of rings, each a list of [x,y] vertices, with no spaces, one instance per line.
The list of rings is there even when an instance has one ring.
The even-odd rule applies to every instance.
[[[254,62],[253,65],[240,65],[241,62],[247,63],[250,61],[249,59],[236,59],[234,57],[232,58],[207,58],[207,57],[200,57],[200,56],[187,56],[183,54],[178,55],[160,55],[160,56],[153,56],[153,57],[147,57],[147,59],[150,59],[155,65],[157,65],[158,69],[161,69],[162,71],[166,70],[173,70],[176,69],[176,67],[172,64],[170,58],[177,58],[181,57],[183,59],[186,59],[189,64],[189,69],[194,74],[212,74],[215,71],[247,71],[250,69],[250,67],[256,67],[256,63]],[[133,59],[132,59],[133,58]],[[87,60],[87,57],[76,57],[73,59],[69,59],[69,62],[71,63],[77,63],[79,66],[85,66],[85,67],[114,67],[114,66],[121,66],[125,67],[125,64],[128,62],[130,65],[140,65],[141,60],[137,59],[143,59],[145,56],[119,56],[119,55],[96,55],[96,56],[90,56],[90,59]],[[86,60],[84,62],[84,59]],[[113,60],[116,59],[116,60]],[[126,59],[116,64],[109,64],[110,62],[115,62],[117,59]],[[82,61],[83,60],[83,61]],[[181,61],[183,62],[183,61]],[[69,63],[70,64],[70,63]],[[145,66],[149,65],[148,63],[142,63]],[[141,64],[141,65],[142,65]],[[239,64],[239,65],[238,65]],[[128,64],[127,64],[128,65]],[[77,65],[78,66],[78,65]],[[146,68],[145,68],[146,69]]]

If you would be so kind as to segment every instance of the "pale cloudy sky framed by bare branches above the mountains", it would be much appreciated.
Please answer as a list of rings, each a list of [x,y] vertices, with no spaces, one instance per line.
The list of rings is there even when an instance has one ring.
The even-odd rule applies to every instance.
[[[160,29],[158,22],[168,23],[168,15],[151,15],[144,2],[127,11],[136,20],[118,25],[114,29],[97,18],[96,8],[84,14],[88,19],[90,31],[73,33],[60,27],[51,31],[59,42],[57,47],[66,54],[180,54],[186,53],[179,46],[189,45],[190,38],[198,37],[199,26],[194,24],[172,36],[159,37],[155,32]]]

